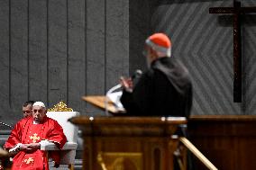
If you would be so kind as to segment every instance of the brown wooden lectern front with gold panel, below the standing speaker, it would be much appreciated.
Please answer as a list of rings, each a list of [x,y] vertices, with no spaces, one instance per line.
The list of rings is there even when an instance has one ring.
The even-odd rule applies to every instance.
[[[70,119],[83,131],[83,169],[172,170],[179,117],[88,117]]]

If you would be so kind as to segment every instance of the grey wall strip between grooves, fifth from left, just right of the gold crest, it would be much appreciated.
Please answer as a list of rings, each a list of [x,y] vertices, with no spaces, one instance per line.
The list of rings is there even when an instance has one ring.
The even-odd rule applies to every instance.
[[[81,96],[86,94],[86,2],[69,1],[68,25],[68,104],[81,114],[86,111],[86,102]]]

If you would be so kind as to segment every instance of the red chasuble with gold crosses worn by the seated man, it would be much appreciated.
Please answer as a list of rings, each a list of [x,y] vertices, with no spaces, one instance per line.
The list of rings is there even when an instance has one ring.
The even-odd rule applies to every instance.
[[[67,139],[57,121],[45,117],[40,124],[33,124],[33,119],[19,121],[12,130],[9,139],[5,142],[5,148],[10,149],[18,143],[30,144],[39,143],[42,139],[54,142],[58,148],[62,148]],[[53,155],[58,161],[58,153]],[[14,156],[12,170],[48,170],[47,152],[37,149],[34,152],[20,151]]]

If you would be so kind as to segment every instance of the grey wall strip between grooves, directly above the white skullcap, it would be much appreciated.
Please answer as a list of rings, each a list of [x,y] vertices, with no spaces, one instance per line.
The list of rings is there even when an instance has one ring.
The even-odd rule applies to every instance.
[[[48,102],[47,1],[32,0],[29,6],[29,99]]]

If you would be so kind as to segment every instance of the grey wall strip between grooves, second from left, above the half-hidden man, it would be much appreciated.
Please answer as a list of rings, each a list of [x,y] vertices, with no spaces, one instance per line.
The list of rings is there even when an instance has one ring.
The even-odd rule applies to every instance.
[[[17,121],[28,100],[28,1],[10,1],[10,114]]]

